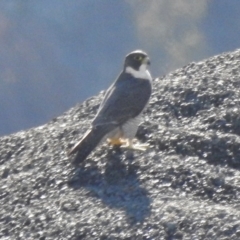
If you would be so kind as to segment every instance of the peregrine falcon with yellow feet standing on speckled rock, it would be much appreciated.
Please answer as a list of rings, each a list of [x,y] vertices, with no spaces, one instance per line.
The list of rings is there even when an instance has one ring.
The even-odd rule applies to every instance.
[[[83,138],[70,150],[77,153],[73,163],[82,162],[103,140],[115,146],[142,149],[133,144],[141,113],[152,92],[152,77],[148,71],[149,57],[142,50],[129,53],[123,70],[108,88],[99,110]]]

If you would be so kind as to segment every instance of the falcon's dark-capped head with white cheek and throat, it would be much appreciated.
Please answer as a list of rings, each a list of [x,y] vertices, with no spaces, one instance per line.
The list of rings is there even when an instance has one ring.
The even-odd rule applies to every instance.
[[[150,59],[148,55],[142,50],[136,50],[130,52],[126,56],[124,62],[124,71],[126,73],[130,73],[136,78],[146,78],[146,74],[149,75],[147,70],[149,65]]]

